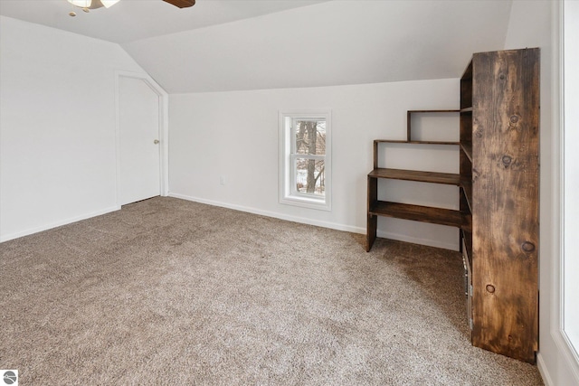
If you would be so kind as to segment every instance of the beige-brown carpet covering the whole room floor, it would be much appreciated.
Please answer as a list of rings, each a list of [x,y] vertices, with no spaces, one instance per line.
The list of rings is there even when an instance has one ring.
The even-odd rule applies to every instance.
[[[155,198],[0,244],[21,385],[538,385],[470,345],[460,254]]]

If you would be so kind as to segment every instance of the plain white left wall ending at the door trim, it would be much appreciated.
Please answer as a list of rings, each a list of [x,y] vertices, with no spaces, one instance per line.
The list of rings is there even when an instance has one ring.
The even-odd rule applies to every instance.
[[[118,209],[118,44],[0,19],[0,240]]]

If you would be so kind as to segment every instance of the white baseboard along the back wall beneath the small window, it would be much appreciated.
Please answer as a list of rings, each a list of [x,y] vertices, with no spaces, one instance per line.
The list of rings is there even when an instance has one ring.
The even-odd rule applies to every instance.
[[[318,221],[318,220],[308,219],[305,217],[291,216],[288,214],[283,214],[283,213],[278,213],[278,212],[262,211],[261,209],[252,208],[252,207],[248,207],[248,206],[233,205],[230,203],[216,202],[213,200],[205,200],[202,198],[193,197],[193,196],[189,196],[189,195],[185,195],[185,194],[179,194],[179,193],[169,193],[168,195],[169,195],[169,197],[180,198],[183,200],[193,201],[193,202],[206,203],[208,205],[220,206],[223,208],[233,209],[235,211],[260,214],[262,216],[273,217],[275,219],[280,219],[280,220],[299,222],[299,223],[308,224],[308,225],[315,225],[318,227],[329,228],[329,229],[333,229],[333,230],[337,230],[337,231],[349,231],[352,233],[365,234],[365,228],[355,227],[355,226],[345,225],[345,224],[339,224],[337,222]],[[408,237],[408,236],[405,236],[403,234],[397,234],[397,233],[392,233],[392,232],[378,231],[377,236],[381,237],[381,238],[385,238],[385,239],[412,242],[414,244],[428,245],[431,247],[436,247],[436,248],[441,248],[441,249],[458,250],[457,247],[451,243],[445,243],[445,242],[441,242],[441,241],[437,241],[437,240],[418,239],[418,238]]]

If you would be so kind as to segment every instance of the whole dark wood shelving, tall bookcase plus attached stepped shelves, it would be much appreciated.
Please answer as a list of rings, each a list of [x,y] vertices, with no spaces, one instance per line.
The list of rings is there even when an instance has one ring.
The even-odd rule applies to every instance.
[[[435,111],[435,110],[422,110]],[[454,111],[454,110],[439,110]],[[538,349],[539,49],[475,53],[460,79],[460,174],[378,167],[367,176],[366,250],[377,216],[460,228],[472,344],[534,363]],[[378,200],[378,180],[460,186],[459,210]]]

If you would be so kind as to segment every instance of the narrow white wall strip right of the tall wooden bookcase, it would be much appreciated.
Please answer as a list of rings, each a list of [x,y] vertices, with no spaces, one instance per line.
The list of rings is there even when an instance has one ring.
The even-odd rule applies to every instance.
[[[560,315],[561,163],[559,122],[560,2],[514,1],[506,49],[541,48],[541,208],[539,256],[539,353],[547,385],[579,385],[577,363],[562,340]]]

